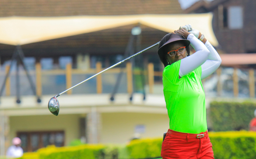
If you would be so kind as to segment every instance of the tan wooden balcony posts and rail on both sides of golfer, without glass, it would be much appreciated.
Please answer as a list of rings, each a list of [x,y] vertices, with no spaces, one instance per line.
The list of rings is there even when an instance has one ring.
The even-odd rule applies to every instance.
[[[10,66],[5,67],[5,72],[7,72],[10,69]],[[72,69],[72,65],[68,64],[66,66],[66,70],[42,70],[40,63],[37,63],[35,65],[35,70],[30,71],[31,74],[35,75],[35,84],[36,84],[36,93],[37,95],[41,96],[42,95],[42,75],[66,75],[66,89],[72,87],[72,75],[73,74],[96,74],[100,71],[102,71],[105,68],[102,68],[102,64],[98,62],[96,64],[95,69],[88,69],[88,70],[80,70],[80,69]],[[141,72],[136,71],[132,69],[131,63],[127,62],[126,63],[126,68],[112,68],[104,73],[119,73],[119,72],[124,72],[126,73],[127,77],[127,93],[132,93],[133,91],[133,75],[138,75]],[[103,74],[104,74],[103,73]],[[249,85],[249,91],[250,91],[250,97],[254,98],[255,97],[255,76],[254,76],[254,70],[250,69],[248,70],[249,73],[249,79],[248,79],[248,85]],[[22,74],[22,73],[20,73]],[[154,71],[154,65],[152,63],[148,64],[147,70],[143,72],[145,77],[147,78],[147,84],[149,87],[149,93],[154,93],[154,86],[155,86],[155,76],[162,77],[162,72],[161,71]],[[1,74],[3,75],[3,73]],[[223,86],[221,83],[221,75],[222,75],[222,69],[219,68],[216,71],[217,75],[217,96],[222,95],[223,91]],[[239,95],[239,78],[238,78],[238,69],[234,68],[234,72],[232,75],[232,80],[233,80],[233,96],[238,97]],[[205,79],[202,81],[204,82]],[[10,77],[7,79],[5,83],[5,95],[9,96],[11,95],[11,81]],[[102,75],[98,75],[96,77],[96,89],[97,93],[102,93]],[[68,91],[67,94],[72,94],[72,90]]]

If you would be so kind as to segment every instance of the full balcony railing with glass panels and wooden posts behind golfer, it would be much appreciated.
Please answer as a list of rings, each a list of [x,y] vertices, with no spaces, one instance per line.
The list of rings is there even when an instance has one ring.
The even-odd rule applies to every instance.
[[[29,71],[32,81],[36,86],[37,95],[58,94],[80,83],[86,78],[100,72],[104,68],[101,63],[96,64],[95,69],[81,70],[72,69],[71,64],[66,70],[42,70],[37,63],[35,70]],[[9,70],[0,71],[0,86],[2,86],[5,73]],[[126,63],[125,68],[113,68],[101,75],[92,78],[85,83],[68,91],[67,94],[85,93],[112,93],[120,72],[122,78],[118,87],[118,93],[142,92],[141,71],[132,69],[131,63]],[[162,72],[154,71],[154,65],[148,64],[147,70],[143,71],[146,93],[162,94]],[[20,71],[20,94],[32,95],[29,81],[24,71]],[[157,80],[160,79],[160,80]],[[204,91],[208,97],[255,97],[255,71],[253,69],[219,68],[212,75],[202,80]],[[5,83],[3,95],[16,95],[16,73],[11,71],[10,77]]]

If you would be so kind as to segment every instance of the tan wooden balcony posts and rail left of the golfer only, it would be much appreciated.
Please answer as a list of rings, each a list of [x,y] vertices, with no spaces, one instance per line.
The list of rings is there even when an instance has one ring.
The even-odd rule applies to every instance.
[[[8,72],[10,69],[9,65],[6,65],[5,72]],[[80,69],[72,69],[71,64],[67,64],[66,70],[42,70],[40,63],[37,63],[35,65],[35,70],[30,71],[30,74],[35,75],[35,85],[36,85],[36,93],[37,95],[42,95],[42,75],[66,75],[66,89],[72,87],[72,74],[96,74],[100,71],[102,71],[105,68],[102,68],[102,64],[98,62],[96,64],[96,69],[88,69],[88,70],[80,70]],[[130,62],[126,63],[126,68],[112,68],[104,73],[119,73],[120,71],[123,71],[127,74],[127,93],[132,93],[133,91],[133,75],[140,74],[140,71],[133,71],[132,65]],[[24,72],[20,73],[23,74]],[[103,74],[104,74],[103,73]],[[156,72],[159,74],[159,72]],[[4,75],[4,74],[2,74]],[[153,93],[153,87],[154,87],[154,65],[148,64],[148,71],[144,71],[144,75],[148,76],[148,84],[150,87],[150,93]],[[161,76],[161,74],[159,74]],[[11,82],[10,77],[7,79],[5,83],[5,95],[10,96],[11,95]],[[96,89],[97,93],[102,93],[102,75],[96,76]],[[72,90],[69,90],[67,94],[72,94]]]

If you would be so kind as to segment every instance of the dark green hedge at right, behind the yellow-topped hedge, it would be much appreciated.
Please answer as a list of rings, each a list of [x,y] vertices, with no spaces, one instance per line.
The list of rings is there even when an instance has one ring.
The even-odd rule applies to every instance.
[[[256,103],[211,102],[210,120],[214,131],[248,130]]]

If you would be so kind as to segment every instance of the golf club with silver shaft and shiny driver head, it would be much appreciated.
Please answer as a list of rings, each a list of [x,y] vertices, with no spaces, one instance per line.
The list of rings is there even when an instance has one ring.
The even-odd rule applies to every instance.
[[[151,48],[153,48],[153,47],[159,45],[159,43],[160,43],[160,41],[157,42],[157,43],[155,43],[154,45],[152,45],[152,46],[150,46],[150,47],[148,47],[148,48],[146,48],[146,49],[144,49],[144,50],[142,50],[142,51],[136,53],[136,54],[131,55],[130,57],[127,57],[126,59],[124,59],[124,60],[122,60],[122,61],[120,61],[120,62],[118,62],[118,63],[116,63],[116,64],[114,64],[114,65],[112,65],[112,66],[110,66],[109,68],[106,68],[105,70],[103,70],[103,71],[101,71],[101,72],[99,72],[99,73],[97,73],[97,74],[95,74],[95,75],[93,75],[93,76],[91,76],[91,77],[85,79],[84,81],[80,82],[79,84],[77,84],[77,85],[75,85],[75,86],[73,86],[73,87],[71,87],[71,88],[69,88],[69,89],[67,89],[67,90],[65,90],[65,91],[63,91],[63,92],[61,92],[61,93],[55,95],[55,96],[54,96],[53,98],[51,98],[51,99],[49,100],[49,102],[48,102],[48,109],[49,109],[49,111],[50,111],[52,114],[54,114],[55,116],[58,116],[58,114],[59,114],[59,101],[58,101],[58,99],[57,99],[58,96],[60,96],[61,94],[65,93],[65,92],[67,92],[67,91],[69,91],[70,89],[72,89],[72,88],[74,88],[74,87],[76,87],[76,86],[78,86],[78,85],[84,83],[85,81],[88,81],[89,79],[91,79],[91,78],[93,78],[93,77],[95,77],[95,76],[97,76],[97,75],[99,75],[99,74],[101,74],[101,73],[103,73],[103,72],[105,72],[105,71],[107,71],[107,70],[109,70],[109,69],[111,69],[111,68],[113,68],[113,67],[119,65],[119,64],[122,64],[124,61],[126,61],[126,60],[128,60],[128,59],[130,59],[130,58],[132,58],[132,57],[134,57],[134,56],[136,56],[136,55],[139,55],[140,53],[142,53],[142,52],[144,52],[144,51],[146,51],[146,50],[148,50],[148,49],[151,49]]]

